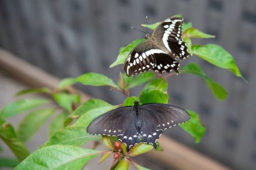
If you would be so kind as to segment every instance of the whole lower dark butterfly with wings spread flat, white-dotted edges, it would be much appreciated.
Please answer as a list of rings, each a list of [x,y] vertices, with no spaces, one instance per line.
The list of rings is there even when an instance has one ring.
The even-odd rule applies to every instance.
[[[164,130],[189,119],[189,114],[177,106],[162,103],[139,105],[139,101],[135,101],[133,106],[117,108],[99,116],[89,124],[87,132],[117,136],[126,144],[127,151],[139,142],[153,144],[156,148],[156,140]]]

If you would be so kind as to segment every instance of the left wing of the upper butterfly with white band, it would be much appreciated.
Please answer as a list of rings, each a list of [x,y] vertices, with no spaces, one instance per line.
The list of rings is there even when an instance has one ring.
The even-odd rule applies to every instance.
[[[145,40],[138,44],[125,60],[124,70],[127,76],[143,73],[145,71],[158,71],[163,73],[174,70],[178,72],[179,62],[174,59],[168,51],[162,50],[159,46]]]

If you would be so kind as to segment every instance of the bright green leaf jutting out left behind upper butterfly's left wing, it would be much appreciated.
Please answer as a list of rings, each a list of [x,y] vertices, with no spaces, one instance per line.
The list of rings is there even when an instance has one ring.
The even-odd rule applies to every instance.
[[[131,44],[129,44],[128,46],[126,46],[117,56],[117,60],[115,60],[115,62],[113,62],[112,65],[110,65],[110,68],[115,67],[116,65],[123,65],[123,63],[125,62],[125,59],[129,55],[131,50],[133,50],[133,48],[135,48],[135,46],[137,46],[137,44],[139,44],[140,42],[143,42],[143,41],[145,41],[145,39],[137,39],[137,40],[134,40],[133,42],[131,42]]]

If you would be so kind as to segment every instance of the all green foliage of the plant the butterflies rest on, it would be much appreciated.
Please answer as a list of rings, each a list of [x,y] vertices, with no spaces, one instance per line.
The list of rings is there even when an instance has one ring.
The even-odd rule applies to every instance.
[[[160,22],[149,25],[143,24],[142,26],[154,30],[158,24]],[[243,79],[241,72],[234,62],[234,58],[224,48],[216,44],[192,44],[191,38],[214,38],[214,36],[193,28],[190,22],[184,23],[183,40],[187,42],[191,54],[198,56],[206,62],[210,62],[216,67],[226,69]],[[120,48],[117,60],[110,67],[123,64],[129,52],[143,40],[134,40],[128,46]],[[182,67],[180,72],[201,77],[217,99],[220,101],[226,99],[226,89],[210,77],[207,77],[199,65],[191,62],[187,66]],[[15,169],[75,170],[82,169],[96,155],[101,155],[99,163],[102,163],[110,155],[114,154],[114,160],[112,165],[110,165],[110,169],[129,169],[129,165],[134,165],[137,169],[146,170],[147,168],[141,167],[131,158],[151,151],[154,148],[151,144],[137,144],[127,153],[125,144],[117,143],[118,140],[115,136],[92,136],[86,132],[86,128],[92,120],[108,112],[108,110],[113,110],[121,105],[133,105],[135,100],[139,100],[140,104],[169,103],[170,93],[167,92],[167,79],[172,75],[159,76],[148,72],[127,77],[125,73],[120,73],[118,82],[115,83],[112,79],[100,73],[86,73],[77,78],[69,77],[63,79],[57,89],[41,88],[19,91],[17,93],[19,96],[29,93],[42,93],[48,96],[48,98],[20,99],[9,103],[0,110],[0,138],[9,146],[16,157],[16,159],[0,158],[0,166],[15,167],[19,162],[20,164]],[[75,83],[108,86],[110,89],[117,89],[127,96],[129,96],[129,91],[133,87],[143,85],[143,89],[139,96],[127,97],[123,103],[111,105],[101,99],[89,99],[82,102],[84,101],[82,95],[70,87]],[[205,127],[196,112],[191,110],[187,110],[187,112],[189,112],[191,120],[181,124],[181,128],[195,138],[195,142],[199,142],[205,133]],[[11,124],[6,122],[6,118],[23,113],[27,114],[16,130]],[[26,147],[26,142],[51,116],[54,116],[54,118],[49,126],[49,140],[40,146],[37,151],[30,154]],[[82,145],[89,141],[94,141],[95,146],[102,142],[106,146],[106,151],[82,148]],[[160,144],[158,143],[157,145],[156,151],[162,151]]]

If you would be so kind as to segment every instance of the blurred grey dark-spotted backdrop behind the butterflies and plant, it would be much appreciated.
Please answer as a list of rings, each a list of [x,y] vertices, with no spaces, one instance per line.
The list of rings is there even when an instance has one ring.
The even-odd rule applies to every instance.
[[[166,134],[232,169],[255,169],[255,0],[0,0],[0,47],[56,77],[77,77],[94,71],[117,81],[123,66],[108,67],[117,58],[119,48],[144,36],[131,26],[146,30],[140,27],[146,15],[153,24],[179,13],[193,27],[216,35],[211,40],[193,40],[193,44],[223,46],[234,56],[249,83],[197,56],[181,62],[181,66],[188,62],[201,65],[207,75],[227,89],[228,98],[218,101],[199,77],[172,77],[170,103],[197,112],[207,132],[199,144],[180,128],[167,130]],[[5,82],[2,76],[1,86]],[[113,104],[125,99],[108,87],[77,87]],[[139,90],[132,89],[131,94],[139,95]]]

